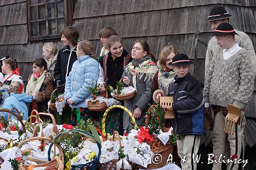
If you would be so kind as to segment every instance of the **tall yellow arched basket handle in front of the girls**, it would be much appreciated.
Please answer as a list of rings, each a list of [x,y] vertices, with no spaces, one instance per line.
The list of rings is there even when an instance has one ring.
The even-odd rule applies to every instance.
[[[104,136],[106,135],[106,130],[105,130],[106,115],[109,113],[110,110],[112,110],[112,109],[114,109],[114,108],[123,109],[126,113],[128,113],[129,116],[132,118],[132,122],[133,122],[133,125],[134,125],[134,129],[135,129],[135,130],[136,130],[136,129],[139,129],[138,126],[137,126],[137,124],[136,124],[136,120],[135,120],[135,118],[134,118],[134,116],[133,116],[133,113],[132,113],[129,109],[127,109],[126,107],[121,106],[121,105],[113,105],[113,106],[109,107],[108,109],[106,109],[106,111],[105,111],[105,113],[104,113],[104,115],[103,115],[103,118],[102,118],[102,123],[101,123],[101,125],[102,125],[102,133],[103,133]]]

